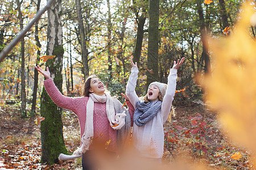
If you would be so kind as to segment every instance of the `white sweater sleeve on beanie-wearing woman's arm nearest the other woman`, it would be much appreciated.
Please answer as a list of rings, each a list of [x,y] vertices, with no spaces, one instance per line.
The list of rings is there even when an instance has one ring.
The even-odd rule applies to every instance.
[[[126,95],[129,98],[131,104],[136,108],[136,104],[139,101],[139,97],[135,92],[136,82],[138,79],[139,70],[137,67],[131,68],[131,74],[129,76],[127,86],[126,86]]]

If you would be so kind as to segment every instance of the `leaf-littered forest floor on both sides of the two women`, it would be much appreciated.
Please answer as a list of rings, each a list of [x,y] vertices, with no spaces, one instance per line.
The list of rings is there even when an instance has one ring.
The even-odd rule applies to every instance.
[[[0,107],[0,170],[81,169],[81,159],[41,164],[38,118],[20,118],[19,113],[15,105]],[[254,169],[250,152],[231,143],[222,133],[216,113],[208,112],[202,105],[177,107],[176,113],[172,122],[164,125],[164,164],[171,167],[186,155],[181,163],[183,169],[193,169],[188,165],[195,167],[199,163],[204,163],[207,169]],[[76,115],[65,111],[63,125],[65,146],[73,152],[80,144]],[[189,168],[184,168],[184,165]]]

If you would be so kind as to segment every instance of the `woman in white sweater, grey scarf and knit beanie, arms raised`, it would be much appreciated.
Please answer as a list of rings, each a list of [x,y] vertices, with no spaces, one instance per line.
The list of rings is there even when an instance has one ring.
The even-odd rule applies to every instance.
[[[168,75],[168,84],[152,82],[147,94],[139,99],[135,92],[138,78],[137,63],[131,57],[131,74],[126,86],[126,95],[135,108],[133,124],[133,145],[139,155],[151,162],[162,162],[164,147],[163,124],[171,113],[174,100],[177,69],[185,58],[174,61],[174,66]]]

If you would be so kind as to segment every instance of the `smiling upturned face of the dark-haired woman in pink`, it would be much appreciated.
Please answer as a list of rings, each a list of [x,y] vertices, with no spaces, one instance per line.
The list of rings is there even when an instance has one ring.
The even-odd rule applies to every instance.
[[[90,89],[89,92],[94,93],[96,95],[102,96],[105,92],[104,84],[101,82],[100,79],[93,77],[90,79]]]

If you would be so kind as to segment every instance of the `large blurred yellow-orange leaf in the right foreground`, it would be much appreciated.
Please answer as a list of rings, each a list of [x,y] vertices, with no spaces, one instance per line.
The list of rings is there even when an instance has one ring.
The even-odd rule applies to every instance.
[[[205,100],[218,111],[224,133],[256,153],[256,40],[250,30],[253,4],[246,1],[242,5],[232,34],[208,37],[213,71],[200,80]]]

